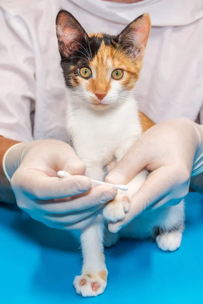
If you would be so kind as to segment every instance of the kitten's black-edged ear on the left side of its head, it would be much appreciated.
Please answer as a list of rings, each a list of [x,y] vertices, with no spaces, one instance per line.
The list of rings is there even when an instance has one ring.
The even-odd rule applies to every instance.
[[[63,57],[70,57],[87,39],[87,33],[67,11],[61,10],[56,17],[56,35],[58,49]]]

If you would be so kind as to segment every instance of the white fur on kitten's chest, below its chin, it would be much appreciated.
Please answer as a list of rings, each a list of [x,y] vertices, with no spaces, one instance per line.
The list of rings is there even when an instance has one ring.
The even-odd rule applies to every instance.
[[[67,130],[78,156],[85,164],[105,166],[126,141],[132,144],[142,133],[136,100],[132,96],[116,108],[96,111],[70,101]]]

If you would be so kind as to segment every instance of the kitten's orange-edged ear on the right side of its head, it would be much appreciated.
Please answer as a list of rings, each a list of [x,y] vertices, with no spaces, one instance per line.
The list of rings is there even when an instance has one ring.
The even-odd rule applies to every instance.
[[[151,29],[151,20],[148,14],[141,15],[132,21],[119,34],[119,43],[136,59],[142,60]]]

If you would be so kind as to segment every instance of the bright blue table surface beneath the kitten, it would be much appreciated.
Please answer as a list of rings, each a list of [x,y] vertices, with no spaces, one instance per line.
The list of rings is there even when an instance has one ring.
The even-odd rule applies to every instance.
[[[155,243],[122,240],[106,250],[108,287],[96,298],[75,293],[81,255],[76,232],[63,232],[0,205],[0,302],[203,303],[203,196],[186,198],[186,230],[173,253]]]

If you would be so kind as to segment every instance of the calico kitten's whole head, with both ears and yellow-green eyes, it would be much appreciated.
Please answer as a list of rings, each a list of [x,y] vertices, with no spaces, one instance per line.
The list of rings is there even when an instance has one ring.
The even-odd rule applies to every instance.
[[[119,35],[87,34],[66,11],[56,18],[61,67],[75,102],[102,110],[125,102],[139,78],[150,32],[149,16]]]

